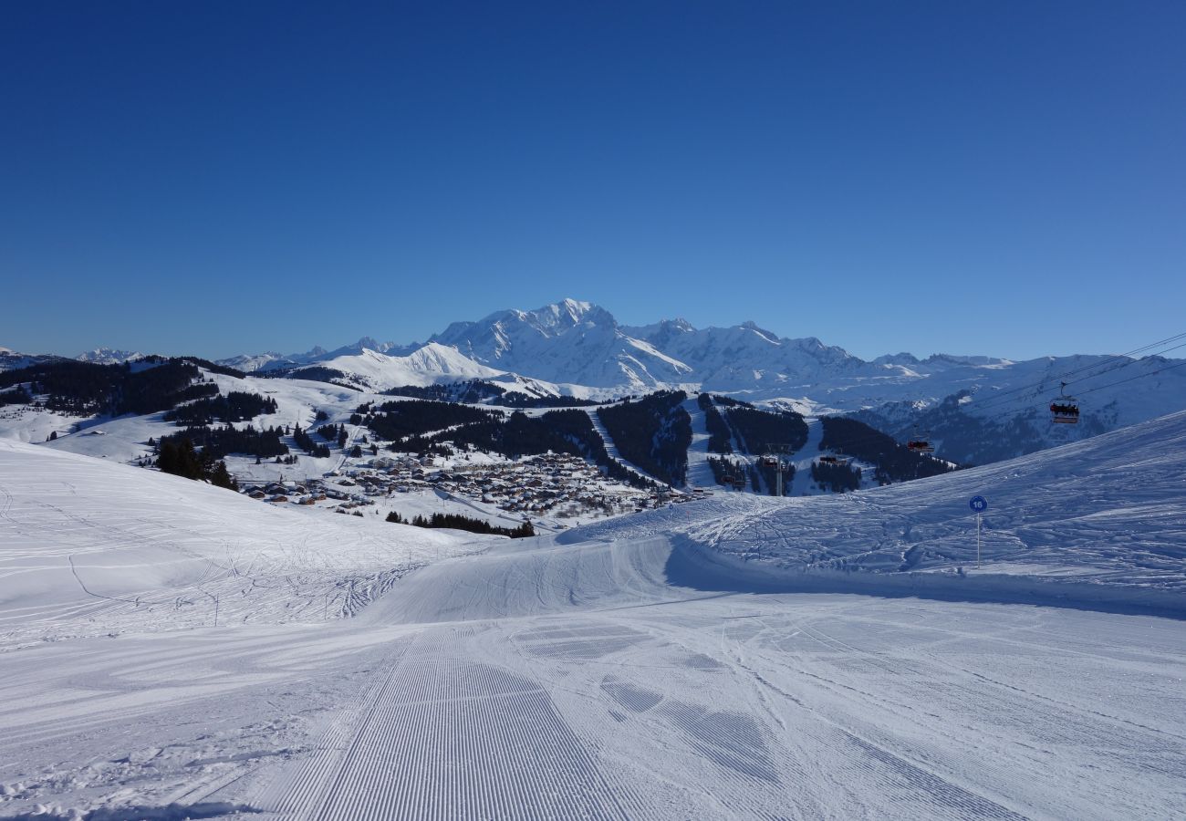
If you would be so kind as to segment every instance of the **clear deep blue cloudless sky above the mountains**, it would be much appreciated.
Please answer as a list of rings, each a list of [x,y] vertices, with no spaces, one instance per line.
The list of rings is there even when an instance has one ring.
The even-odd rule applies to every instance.
[[[223,357],[565,297],[873,357],[1186,330],[1186,4],[26,2],[0,345]]]

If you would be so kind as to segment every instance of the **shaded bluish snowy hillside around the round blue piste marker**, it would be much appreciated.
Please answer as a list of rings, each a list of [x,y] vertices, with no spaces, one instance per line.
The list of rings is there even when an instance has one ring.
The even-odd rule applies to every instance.
[[[976,569],[973,496],[984,496]],[[1186,412],[1022,458],[846,496],[718,495],[569,539],[676,533],[764,588],[1148,604],[1186,615]],[[704,552],[707,549],[707,553]]]

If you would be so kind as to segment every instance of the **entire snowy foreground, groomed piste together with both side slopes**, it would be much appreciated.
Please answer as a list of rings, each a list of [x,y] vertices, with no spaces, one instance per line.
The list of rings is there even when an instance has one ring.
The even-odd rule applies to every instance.
[[[1186,413],[517,541],[0,443],[0,817],[1181,817],[1184,502]]]

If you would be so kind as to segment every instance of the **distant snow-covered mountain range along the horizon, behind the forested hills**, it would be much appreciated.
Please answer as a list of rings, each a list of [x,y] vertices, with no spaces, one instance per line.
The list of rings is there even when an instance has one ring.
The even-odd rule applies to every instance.
[[[98,349],[85,361],[139,355]],[[32,359],[0,351],[0,369]],[[872,361],[814,337],[788,338],[742,323],[694,327],[683,319],[621,325],[601,306],[565,299],[534,311],[455,322],[426,343],[371,337],[332,350],[222,359],[248,373],[279,371],[366,390],[463,380],[536,395],[608,399],[661,388],[731,394],[808,415],[856,413],[899,438],[932,439],[961,463],[983,464],[1082,439],[1186,408],[1186,361],[1111,355],[1039,357],[911,354]],[[1069,382],[1082,424],[1050,424],[1046,406]]]

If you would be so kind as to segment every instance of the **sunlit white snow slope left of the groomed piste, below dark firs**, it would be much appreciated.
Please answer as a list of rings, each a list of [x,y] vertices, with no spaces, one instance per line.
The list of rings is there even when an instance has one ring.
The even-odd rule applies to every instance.
[[[232,623],[323,620],[458,545],[0,439],[0,649],[212,624],[216,606]]]

